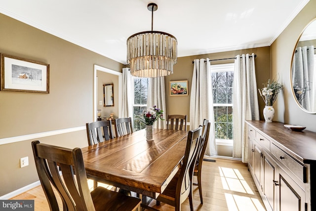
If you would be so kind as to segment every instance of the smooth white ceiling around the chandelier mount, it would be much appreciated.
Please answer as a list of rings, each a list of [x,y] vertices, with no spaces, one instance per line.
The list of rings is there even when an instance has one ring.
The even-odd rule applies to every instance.
[[[126,39],[151,30],[178,57],[269,46],[309,0],[0,0],[0,13],[126,64]]]

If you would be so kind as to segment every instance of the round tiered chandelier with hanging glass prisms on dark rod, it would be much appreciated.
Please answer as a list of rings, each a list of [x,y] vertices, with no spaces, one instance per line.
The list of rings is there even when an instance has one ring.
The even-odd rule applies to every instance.
[[[177,63],[177,39],[165,32],[153,31],[156,3],[147,5],[152,12],[152,31],[139,32],[127,39],[127,63],[132,76],[156,78],[173,74]]]

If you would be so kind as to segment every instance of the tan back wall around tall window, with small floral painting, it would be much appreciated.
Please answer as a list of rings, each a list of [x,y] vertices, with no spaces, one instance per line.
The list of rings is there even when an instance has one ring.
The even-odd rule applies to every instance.
[[[233,58],[238,54],[251,54],[255,53],[257,55],[255,59],[256,66],[256,79],[257,85],[260,87],[263,83],[270,77],[270,47],[259,47],[259,48],[249,48],[243,50],[234,50],[221,53],[210,53],[195,56],[179,57],[177,64],[174,66],[173,75],[165,77],[165,89],[166,89],[166,114],[182,114],[188,115],[190,112],[190,95],[191,95],[191,85],[192,85],[192,75],[193,67],[192,61],[194,59],[223,59],[223,58]],[[214,61],[211,64],[224,64],[224,63],[234,63],[232,60],[222,60]],[[188,96],[169,96],[169,82],[170,81],[180,81],[188,80]],[[260,111],[264,108],[263,100],[259,99]],[[262,112],[260,113],[261,119],[263,119]],[[190,118],[189,118],[190,122]]]

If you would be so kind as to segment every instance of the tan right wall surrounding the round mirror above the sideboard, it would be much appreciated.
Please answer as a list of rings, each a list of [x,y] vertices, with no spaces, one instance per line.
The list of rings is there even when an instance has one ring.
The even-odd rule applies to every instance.
[[[303,10],[286,27],[271,45],[272,76],[279,75],[284,85],[283,92],[277,97],[274,108],[275,121],[286,124],[306,126],[308,130],[316,132],[316,115],[301,110],[295,103],[290,81],[291,59],[293,51],[305,26],[316,18],[316,0],[310,0]]]

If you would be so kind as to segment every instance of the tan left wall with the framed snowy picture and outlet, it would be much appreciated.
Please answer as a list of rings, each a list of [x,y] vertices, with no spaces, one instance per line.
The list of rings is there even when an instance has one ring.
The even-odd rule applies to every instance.
[[[50,93],[0,91],[0,139],[93,121],[93,65],[121,72],[123,65],[0,14],[0,52],[50,65]],[[38,138],[66,147],[87,145],[86,132]],[[1,144],[1,141],[0,141]],[[20,158],[30,165],[19,168]],[[0,196],[38,180],[31,140],[0,145]]]

